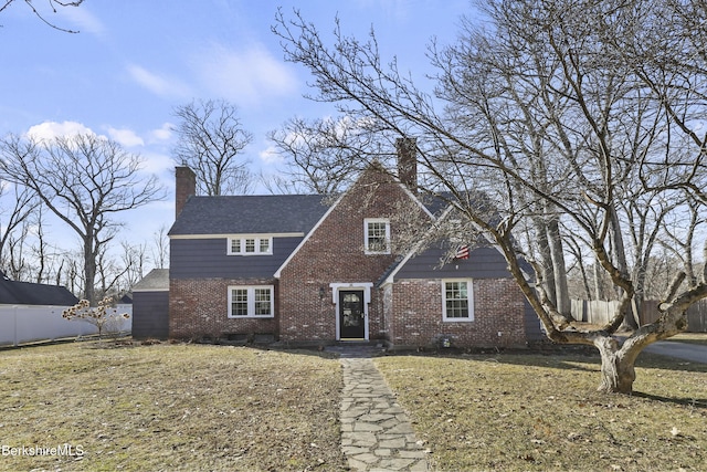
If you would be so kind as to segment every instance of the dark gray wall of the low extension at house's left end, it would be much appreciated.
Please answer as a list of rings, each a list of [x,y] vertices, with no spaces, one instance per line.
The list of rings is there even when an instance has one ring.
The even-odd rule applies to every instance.
[[[133,293],[133,337],[167,339],[169,336],[169,292]]]

